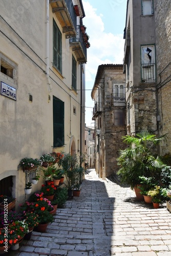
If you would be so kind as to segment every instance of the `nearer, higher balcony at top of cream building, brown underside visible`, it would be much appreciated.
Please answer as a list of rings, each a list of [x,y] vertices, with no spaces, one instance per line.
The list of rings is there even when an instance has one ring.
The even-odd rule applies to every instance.
[[[66,33],[66,38],[76,35],[77,15],[74,10],[72,0],[50,0],[52,12],[55,13],[62,27],[62,32]]]

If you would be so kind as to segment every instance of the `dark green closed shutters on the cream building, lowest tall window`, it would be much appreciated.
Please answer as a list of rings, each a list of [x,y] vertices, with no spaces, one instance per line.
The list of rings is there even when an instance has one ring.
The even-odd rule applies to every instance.
[[[64,102],[53,96],[53,147],[64,145]]]

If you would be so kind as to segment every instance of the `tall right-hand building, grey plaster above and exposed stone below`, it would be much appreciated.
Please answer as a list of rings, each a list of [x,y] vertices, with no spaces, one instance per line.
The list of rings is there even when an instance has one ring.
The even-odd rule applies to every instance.
[[[148,2],[148,3],[147,3]],[[124,60],[127,134],[157,131],[153,1],[127,1]]]

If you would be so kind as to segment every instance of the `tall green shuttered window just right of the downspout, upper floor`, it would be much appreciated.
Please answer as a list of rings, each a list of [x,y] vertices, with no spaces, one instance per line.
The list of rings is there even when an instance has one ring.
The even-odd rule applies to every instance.
[[[62,35],[53,20],[53,65],[62,73]]]

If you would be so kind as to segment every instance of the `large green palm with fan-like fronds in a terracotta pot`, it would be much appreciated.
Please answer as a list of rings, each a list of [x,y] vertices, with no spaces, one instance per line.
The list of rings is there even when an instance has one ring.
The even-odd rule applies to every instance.
[[[122,137],[123,143],[129,145],[120,151],[118,157],[118,175],[121,182],[130,185],[131,188],[140,184],[139,176],[160,176],[163,166],[162,157],[156,154],[156,146],[161,141],[166,141],[167,135],[157,136],[146,130],[136,134],[135,137],[126,135]]]

